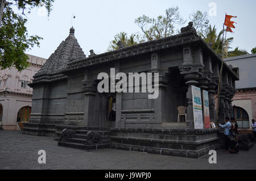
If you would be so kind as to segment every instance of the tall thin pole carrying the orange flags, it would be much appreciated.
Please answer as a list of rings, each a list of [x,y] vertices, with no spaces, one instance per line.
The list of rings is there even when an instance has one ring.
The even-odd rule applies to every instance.
[[[226,14],[225,14],[226,18]],[[217,93],[217,111],[216,111],[216,119],[217,119],[217,126],[218,126],[218,110],[220,107],[220,96],[221,96],[221,83],[222,83],[222,70],[224,65],[224,31],[225,31],[225,23],[223,23],[223,33],[222,33],[222,60],[221,60],[221,69],[220,69],[220,77],[218,80],[218,93]],[[225,36],[226,39],[226,36]]]

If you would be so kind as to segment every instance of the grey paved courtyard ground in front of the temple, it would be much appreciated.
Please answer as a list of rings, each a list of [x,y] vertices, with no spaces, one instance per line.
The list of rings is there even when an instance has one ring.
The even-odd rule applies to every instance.
[[[113,149],[87,152],[57,146],[50,137],[0,131],[0,169],[256,169],[255,147],[239,154],[218,150],[217,164],[211,165],[208,155],[192,159]],[[38,163],[39,150],[46,151],[46,164]]]

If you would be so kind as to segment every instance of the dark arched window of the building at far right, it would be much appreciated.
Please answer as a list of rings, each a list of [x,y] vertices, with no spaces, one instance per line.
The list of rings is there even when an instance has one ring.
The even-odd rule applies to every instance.
[[[249,115],[241,107],[233,107],[234,118],[237,121],[238,128],[250,128]]]

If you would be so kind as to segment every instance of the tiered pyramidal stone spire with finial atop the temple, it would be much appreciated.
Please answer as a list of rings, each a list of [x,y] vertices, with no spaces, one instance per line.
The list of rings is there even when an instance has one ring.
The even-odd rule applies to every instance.
[[[68,62],[85,58],[86,56],[75,37],[75,29],[72,27],[67,39],[61,42],[59,47],[51,54],[43,67],[35,74],[33,82],[42,79],[50,80],[57,77],[64,77],[64,75],[60,73],[60,69],[67,66]]]

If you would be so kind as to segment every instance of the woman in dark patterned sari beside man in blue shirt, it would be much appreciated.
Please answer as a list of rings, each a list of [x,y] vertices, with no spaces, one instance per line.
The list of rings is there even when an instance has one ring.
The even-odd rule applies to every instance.
[[[236,131],[236,124],[232,123],[231,129],[229,131],[229,153],[238,152],[238,135]]]

